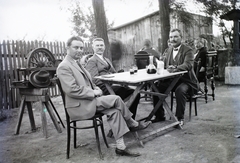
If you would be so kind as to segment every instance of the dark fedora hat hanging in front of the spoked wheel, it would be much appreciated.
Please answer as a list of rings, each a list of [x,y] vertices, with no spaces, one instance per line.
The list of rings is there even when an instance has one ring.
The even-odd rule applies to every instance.
[[[37,88],[48,87],[51,84],[50,74],[48,71],[33,71],[29,75],[30,83]]]

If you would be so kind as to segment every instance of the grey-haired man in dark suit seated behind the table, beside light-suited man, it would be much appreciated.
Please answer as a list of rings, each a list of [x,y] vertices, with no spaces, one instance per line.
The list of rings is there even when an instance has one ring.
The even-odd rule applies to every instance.
[[[94,79],[95,76],[113,74],[117,71],[113,67],[111,61],[108,58],[103,56],[105,50],[104,40],[102,38],[95,38],[92,42],[92,47],[94,55],[88,60],[86,64],[86,69],[89,71],[93,78],[93,82],[101,88],[104,95],[109,95],[105,84],[100,79]],[[123,100],[128,98],[134,90],[121,85],[112,85],[112,89],[116,95],[119,95]],[[139,103],[140,95],[138,94],[132,105],[129,107],[129,110],[133,113],[132,118],[135,119],[137,106]]]

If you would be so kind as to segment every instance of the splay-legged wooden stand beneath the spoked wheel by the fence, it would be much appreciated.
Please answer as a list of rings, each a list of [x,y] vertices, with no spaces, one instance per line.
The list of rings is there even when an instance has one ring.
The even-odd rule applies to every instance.
[[[28,109],[28,115],[29,115],[29,120],[31,124],[32,130],[36,130],[35,126],[35,120],[33,116],[33,111],[32,111],[32,102],[40,102],[41,105],[41,119],[42,119],[42,128],[43,128],[43,134],[45,138],[48,137],[47,134],[47,119],[46,119],[46,114],[45,112],[48,112],[55,128],[59,133],[62,132],[58,121],[54,115],[54,112],[56,113],[58,119],[60,120],[62,126],[65,128],[60,116],[58,115],[58,112],[56,111],[56,108],[54,107],[51,98],[48,94],[48,88],[19,88],[19,93],[22,96],[21,99],[21,104],[20,104],[20,110],[18,114],[18,123],[15,128],[15,134],[18,135],[20,131],[20,126],[22,122],[22,117],[24,113],[24,108],[25,104],[27,104],[27,109]],[[44,106],[45,105],[45,106]],[[53,110],[52,110],[53,109]]]

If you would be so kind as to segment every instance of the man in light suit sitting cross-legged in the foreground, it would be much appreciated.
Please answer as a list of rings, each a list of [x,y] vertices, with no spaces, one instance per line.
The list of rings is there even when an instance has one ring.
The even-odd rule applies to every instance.
[[[116,154],[139,156],[130,152],[123,141],[123,135],[130,130],[146,128],[149,122],[137,122],[131,118],[119,96],[102,96],[102,90],[93,84],[91,75],[78,62],[83,55],[84,43],[80,37],[71,37],[67,41],[67,56],[57,68],[57,76],[65,93],[67,112],[72,120],[89,119],[96,112],[107,115],[107,121],[116,139]]]

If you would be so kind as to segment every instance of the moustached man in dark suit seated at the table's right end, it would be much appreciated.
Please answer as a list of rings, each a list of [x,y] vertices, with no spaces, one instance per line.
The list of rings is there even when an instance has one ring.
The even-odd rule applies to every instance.
[[[165,68],[171,72],[188,71],[184,74],[174,87],[176,95],[176,117],[180,125],[184,124],[184,112],[188,93],[197,91],[199,83],[193,70],[194,55],[190,47],[182,44],[182,33],[179,29],[173,29],[170,32],[169,40],[171,47],[165,53],[164,65]],[[157,83],[160,92],[164,92],[169,85],[169,80]],[[158,97],[153,98],[154,106],[158,102]],[[159,122],[165,120],[165,113],[163,106],[156,112],[156,118],[152,122]]]

